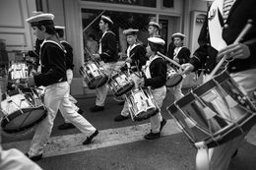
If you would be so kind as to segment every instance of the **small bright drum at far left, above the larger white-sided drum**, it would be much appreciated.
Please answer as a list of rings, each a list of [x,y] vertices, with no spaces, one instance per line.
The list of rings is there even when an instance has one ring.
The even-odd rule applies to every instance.
[[[10,80],[20,80],[29,77],[29,66],[26,63],[13,63],[8,70]]]

